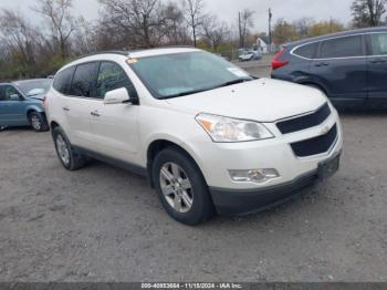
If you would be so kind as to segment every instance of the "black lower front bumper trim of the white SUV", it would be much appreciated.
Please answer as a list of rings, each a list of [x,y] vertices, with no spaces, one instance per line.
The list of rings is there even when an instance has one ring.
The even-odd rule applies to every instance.
[[[230,190],[210,188],[213,204],[219,215],[238,216],[259,213],[276,206],[300,194],[318,179],[318,172],[303,175],[290,183],[264,189]]]

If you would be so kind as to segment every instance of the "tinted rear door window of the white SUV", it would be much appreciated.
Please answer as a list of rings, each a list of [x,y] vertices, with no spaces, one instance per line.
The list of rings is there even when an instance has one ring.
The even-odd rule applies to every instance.
[[[71,84],[71,95],[95,97],[95,82],[100,62],[80,64],[75,69]]]

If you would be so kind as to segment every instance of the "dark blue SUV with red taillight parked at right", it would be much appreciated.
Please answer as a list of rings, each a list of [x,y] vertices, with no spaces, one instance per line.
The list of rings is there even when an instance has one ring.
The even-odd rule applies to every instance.
[[[314,86],[338,107],[387,107],[387,28],[362,29],[285,45],[272,77]]]

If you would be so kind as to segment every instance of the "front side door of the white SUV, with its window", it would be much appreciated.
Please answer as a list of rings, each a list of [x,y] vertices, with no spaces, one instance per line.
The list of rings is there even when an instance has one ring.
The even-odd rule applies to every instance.
[[[138,152],[139,106],[130,103],[104,104],[107,92],[125,87],[129,95],[136,94],[134,85],[119,64],[102,62],[95,96],[98,102],[91,106],[92,132],[97,153],[133,163]]]

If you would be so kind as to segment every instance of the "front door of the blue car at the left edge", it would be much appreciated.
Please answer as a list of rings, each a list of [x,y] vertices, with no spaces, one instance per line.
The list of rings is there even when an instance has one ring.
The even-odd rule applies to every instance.
[[[0,85],[0,126],[23,125],[28,125],[23,96],[13,85]]]

